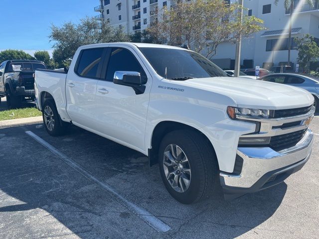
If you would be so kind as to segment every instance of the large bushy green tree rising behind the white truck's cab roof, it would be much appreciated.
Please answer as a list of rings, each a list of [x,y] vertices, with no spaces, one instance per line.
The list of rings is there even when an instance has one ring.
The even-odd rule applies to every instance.
[[[81,19],[79,24],[65,22],[62,26],[51,26],[49,35],[53,42],[53,59],[58,67],[68,66],[78,47],[104,42],[130,41],[129,34],[107,22],[92,17]]]

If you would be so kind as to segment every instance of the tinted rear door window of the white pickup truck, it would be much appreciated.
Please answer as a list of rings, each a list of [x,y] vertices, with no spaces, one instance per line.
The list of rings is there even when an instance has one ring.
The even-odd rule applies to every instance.
[[[96,78],[103,48],[83,50],[76,73],[83,77]]]

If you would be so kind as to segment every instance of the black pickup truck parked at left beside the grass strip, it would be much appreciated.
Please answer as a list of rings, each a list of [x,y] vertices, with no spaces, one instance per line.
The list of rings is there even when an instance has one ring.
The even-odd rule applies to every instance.
[[[10,60],[0,64],[0,102],[6,97],[9,109],[19,108],[22,101],[34,100],[35,69],[46,69],[41,61]]]

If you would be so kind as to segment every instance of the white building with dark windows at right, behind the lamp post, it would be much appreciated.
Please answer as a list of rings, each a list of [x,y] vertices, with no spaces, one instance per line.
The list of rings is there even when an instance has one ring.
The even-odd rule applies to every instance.
[[[292,24],[292,37],[311,34],[319,41],[319,0],[314,6],[306,0],[295,0]],[[284,7],[284,0],[244,0],[246,14],[254,15],[264,20],[264,31],[255,33],[252,38],[243,39],[241,48],[242,68],[270,68],[288,63],[288,28],[290,9]],[[234,69],[236,45],[229,42],[217,48],[217,54],[212,57],[223,69]],[[291,65],[296,66],[298,51],[292,40]]]

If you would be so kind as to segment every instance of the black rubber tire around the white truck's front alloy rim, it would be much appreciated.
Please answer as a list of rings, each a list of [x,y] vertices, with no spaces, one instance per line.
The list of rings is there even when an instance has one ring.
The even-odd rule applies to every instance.
[[[186,175],[187,179],[190,180],[187,189],[187,186],[185,186],[186,184],[183,183],[183,180],[183,182],[178,181],[178,185],[182,184],[185,188],[185,190],[182,190],[182,192],[176,191],[177,187],[175,187],[174,189],[173,186],[171,186],[171,182],[166,178],[166,174],[164,171],[166,170],[167,173],[168,168],[171,168],[172,170],[176,170],[172,167],[175,167],[177,169],[180,168],[179,164],[177,166],[173,165],[168,167],[164,166],[163,164],[165,160],[166,162],[169,161],[167,160],[167,157],[164,157],[164,152],[166,150],[167,153],[167,149],[169,149],[169,145],[171,144],[178,145],[178,147],[182,150],[180,154],[184,153],[186,159],[188,160],[188,162],[186,162],[186,166],[183,166],[191,172],[189,175],[184,173],[184,177]],[[183,155],[180,157],[183,157]],[[185,161],[185,159],[181,161]],[[207,142],[207,140],[202,135],[200,135],[200,133],[197,133],[195,131],[188,129],[176,130],[166,134],[160,143],[159,164],[160,175],[167,191],[174,199],[176,199],[180,203],[191,204],[198,202],[201,199],[207,198],[213,192],[213,188],[215,188],[215,186],[218,184],[219,169],[215,152],[212,146]],[[187,165],[189,166],[189,168]],[[164,169],[164,167],[166,168]],[[183,170],[184,169],[182,169],[181,171]],[[183,174],[180,171],[175,172],[179,172],[180,175]],[[172,177],[174,178],[175,174],[173,174]],[[173,181],[172,179],[170,180]]]

